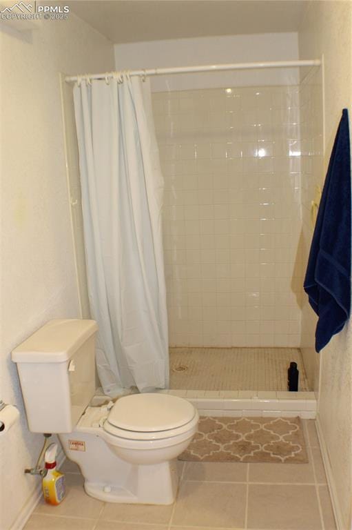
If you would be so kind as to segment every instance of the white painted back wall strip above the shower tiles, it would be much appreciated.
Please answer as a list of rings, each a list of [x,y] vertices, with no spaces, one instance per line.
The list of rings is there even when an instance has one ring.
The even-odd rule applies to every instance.
[[[198,37],[115,45],[117,70],[298,59],[297,33]],[[298,69],[216,72],[152,77],[152,91],[225,86],[298,84]]]

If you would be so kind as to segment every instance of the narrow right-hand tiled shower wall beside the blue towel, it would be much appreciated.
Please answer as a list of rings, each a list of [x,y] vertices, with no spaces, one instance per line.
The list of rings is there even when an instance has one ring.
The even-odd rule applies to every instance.
[[[320,202],[324,181],[322,159],[322,79],[317,69],[300,87],[300,136],[302,172],[302,264],[306,268],[316,215],[312,201]],[[315,353],[316,317],[306,295],[302,297],[302,333],[300,349],[311,389],[318,390],[319,355]]]

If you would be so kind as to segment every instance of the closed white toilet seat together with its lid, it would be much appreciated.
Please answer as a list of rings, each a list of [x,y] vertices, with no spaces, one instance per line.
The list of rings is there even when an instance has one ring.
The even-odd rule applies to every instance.
[[[187,433],[197,422],[194,406],[180,397],[133,394],[116,401],[103,429],[125,440],[163,440]]]

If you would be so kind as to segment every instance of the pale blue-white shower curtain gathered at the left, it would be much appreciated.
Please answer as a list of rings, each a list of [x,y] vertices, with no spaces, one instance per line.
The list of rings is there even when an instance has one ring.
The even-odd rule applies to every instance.
[[[96,366],[108,395],[169,380],[161,233],[163,177],[148,79],[74,86],[83,230]]]

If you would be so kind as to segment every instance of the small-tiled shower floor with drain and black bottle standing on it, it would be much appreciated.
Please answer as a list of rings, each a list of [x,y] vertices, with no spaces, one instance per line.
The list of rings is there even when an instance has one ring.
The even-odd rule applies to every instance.
[[[170,389],[286,391],[298,365],[298,390],[309,391],[298,348],[170,348]]]

